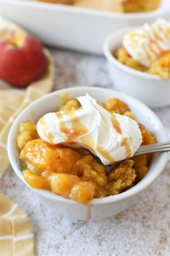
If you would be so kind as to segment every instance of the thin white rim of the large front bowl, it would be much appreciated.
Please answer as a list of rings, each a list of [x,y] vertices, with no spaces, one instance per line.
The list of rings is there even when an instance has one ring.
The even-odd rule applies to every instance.
[[[148,111],[147,113],[151,114],[154,119],[156,119],[157,125],[161,128],[160,129],[160,135],[162,137],[162,141],[166,141],[166,133],[164,130],[164,126],[161,123],[161,121],[158,119],[158,117],[156,116],[156,114],[153,113],[153,111],[151,111],[150,108],[148,108],[148,106],[146,106],[145,104],[141,103],[140,101],[136,100],[135,98],[126,95],[125,93],[120,93],[116,90],[112,90],[112,89],[108,89],[108,88],[97,88],[97,87],[73,87],[73,88],[65,88],[65,89],[61,89],[61,90],[56,90],[53,93],[48,93],[47,95],[37,99],[36,101],[32,102],[29,106],[27,106],[27,108],[24,108],[24,110],[19,114],[19,116],[17,116],[17,119],[15,119],[14,123],[12,124],[12,127],[9,131],[9,136],[8,136],[8,140],[7,140],[7,152],[9,155],[9,161],[12,165],[13,171],[17,174],[17,176],[19,177],[19,179],[22,180],[22,182],[24,182],[24,178],[21,174],[21,172],[19,171],[18,167],[17,167],[17,160],[14,157],[14,153],[12,150],[12,145],[14,144],[14,137],[13,134],[15,134],[16,130],[17,130],[17,124],[19,123],[19,120],[22,116],[24,116],[25,113],[27,113],[27,111],[30,110],[30,108],[32,108],[32,106],[36,106],[37,104],[39,104],[41,101],[48,101],[50,100],[50,97],[53,95],[55,96],[59,96],[61,95],[61,93],[70,93],[70,92],[75,92],[78,90],[78,88],[80,90],[84,90],[87,91],[88,93],[90,93],[91,91],[95,92],[95,91],[103,91],[104,93],[115,93],[115,95],[117,97],[121,96],[122,97],[126,97],[128,98],[130,101],[133,101],[134,105],[136,106],[136,104],[138,104],[141,109],[143,109],[143,111]],[[139,192],[143,191],[144,189],[146,189],[146,187],[148,187],[149,185],[151,185],[153,183],[153,181],[161,174],[161,172],[164,170],[164,167],[166,166],[166,162],[167,162],[167,158],[168,158],[168,154],[167,153],[161,153],[161,155],[159,155],[160,160],[158,161],[158,163],[156,164],[156,171],[154,172],[154,174],[152,175],[152,177],[150,177],[150,179],[143,179],[140,182],[138,182],[138,184],[135,184],[135,186],[131,187],[130,189],[126,190],[125,192],[122,192],[118,195],[110,195],[108,197],[102,197],[102,198],[95,198],[93,200],[91,200],[91,202],[89,202],[89,206],[94,206],[94,205],[104,205],[107,203],[114,203],[114,202],[118,202],[118,201],[122,201],[125,199],[128,199],[128,197],[132,197],[133,195],[138,194]],[[25,184],[27,184],[26,182],[24,182]],[[27,184],[28,187],[30,187]],[[32,187],[30,187],[31,189],[33,189]],[[62,197],[60,195],[56,195],[53,192],[44,190],[44,189],[33,189],[35,192],[37,192],[38,195],[41,195],[42,197],[47,198],[48,200],[53,200],[55,202],[66,202],[68,204],[79,204],[78,202],[75,202],[73,200],[69,200],[66,199],[65,197]]]

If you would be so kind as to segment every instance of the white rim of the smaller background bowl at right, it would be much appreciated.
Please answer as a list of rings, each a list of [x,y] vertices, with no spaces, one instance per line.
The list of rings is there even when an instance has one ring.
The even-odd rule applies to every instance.
[[[135,27],[134,26],[124,27],[122,29],[116,30],[114,33],[110,33],[109,35],[107,35],[107,38],[104,40],[104,43],[103,43],[104,56],[107,58],[108,61],[110,61],[112,64],[114,64],[117,68],[122,69],[126,73],[129,73],[135,77],[141,77],[141,78],[145,78],[148,80],[161,81],[162,84],[164,84],[164,82],[166,82],[167,80],[161,79],[161,77],[158,77],[158,75],[156,75],[156,74],[148,74],[146,72],[141,72],[141,71],[138,71],[131,67],[128,67],[125,64],[122,64],[120,61],[117,61],[115,56],[113,56],[113,54],[112,54],[112,51],[114,51],[116,49],[116,47],[113,46],[112,51],[111,51],[111,49],[109,47],[109,44],[112,44],[112,40],[114,38],[117,38],[117,36],[123,37],[123,35],[125,35],[125,33],[127,33],[128,31],[134,30],[138,27],[136,27],[136,26]],[[121,45],[121,43],[122,42],[120,42],[120,45]],[[168,80],[170,80],[170,79],[168,79]],[[153,83],[151,83],[151,84],[153,85]]]

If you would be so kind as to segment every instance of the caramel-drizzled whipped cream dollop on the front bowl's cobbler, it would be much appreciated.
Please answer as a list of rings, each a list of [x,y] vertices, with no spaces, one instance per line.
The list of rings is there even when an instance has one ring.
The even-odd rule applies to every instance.
[[[137,121],[110,114],[87,94],[77,100],[79,109],[42,116],[37,122],[40,138],[52,145],[87,148],[104,165],[132,157],[142,142]]]

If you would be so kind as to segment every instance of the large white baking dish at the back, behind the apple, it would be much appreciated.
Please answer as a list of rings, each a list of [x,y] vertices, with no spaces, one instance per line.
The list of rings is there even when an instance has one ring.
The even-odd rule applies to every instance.
[[[48,46],[102,54],[102,44],[109,33],[165,17],[168,3],[164,0],[153,12],[118,14],[29,0],[0,0],[0,14]]]

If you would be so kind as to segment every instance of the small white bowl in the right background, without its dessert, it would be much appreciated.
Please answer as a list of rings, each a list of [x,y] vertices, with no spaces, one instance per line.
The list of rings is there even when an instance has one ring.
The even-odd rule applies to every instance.
[[[113,85],[122,93],[127,93],[150,107],[162,107],[170,104],[170,80],[140,72],[121,64],[113,52],[122,44],[123,36],[135,27],[121,29],[108,35],[104,41],[104,55],[107,58],[109,74]]]

